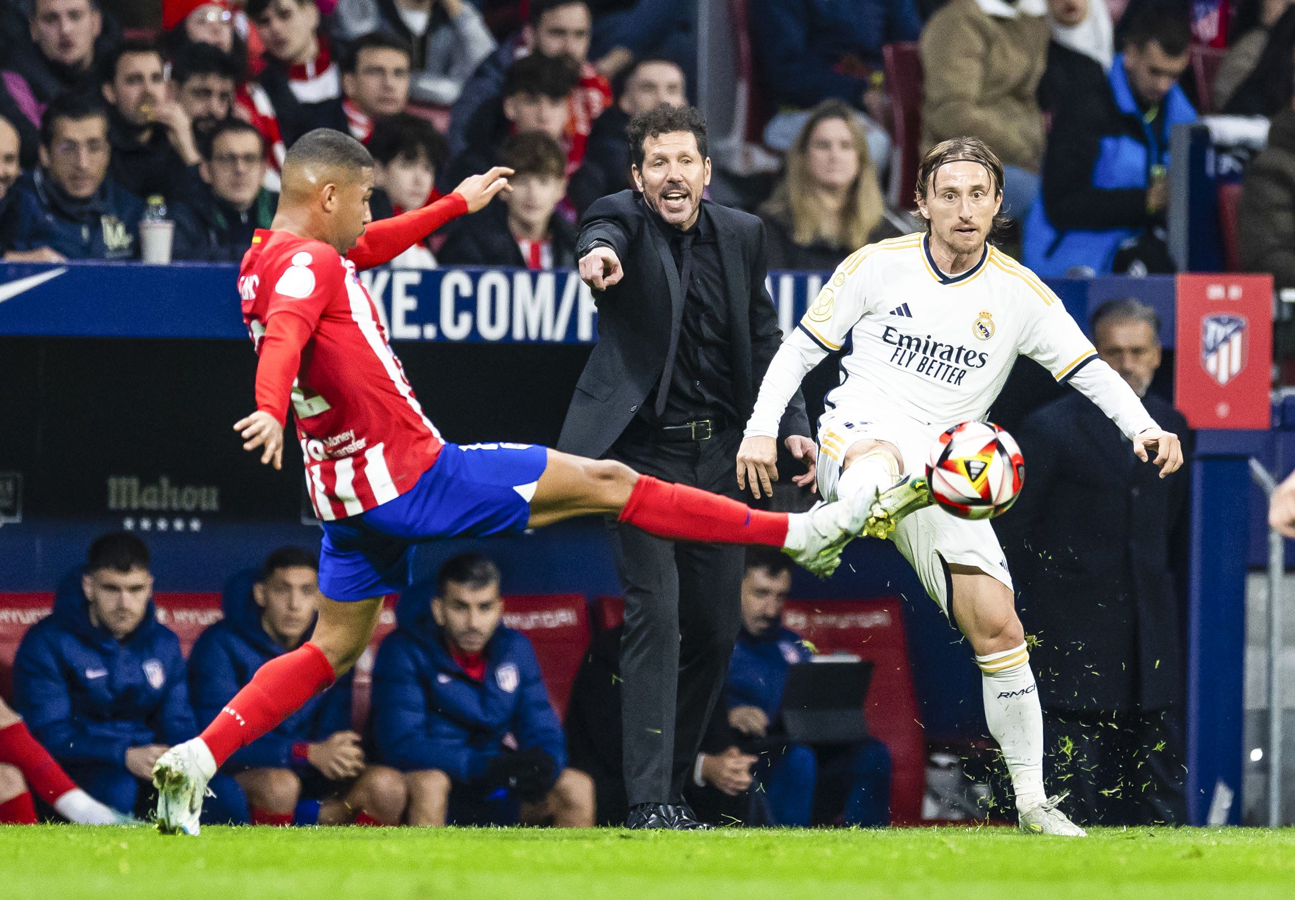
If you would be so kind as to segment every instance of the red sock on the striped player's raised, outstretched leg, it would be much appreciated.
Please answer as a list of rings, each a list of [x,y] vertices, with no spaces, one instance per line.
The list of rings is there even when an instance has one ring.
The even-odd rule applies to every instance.
[[[688,485],[640,475],[620,521],[659,538],[704,543],[768,544],[781,547],[787,539],[787,513],[752,509]]]

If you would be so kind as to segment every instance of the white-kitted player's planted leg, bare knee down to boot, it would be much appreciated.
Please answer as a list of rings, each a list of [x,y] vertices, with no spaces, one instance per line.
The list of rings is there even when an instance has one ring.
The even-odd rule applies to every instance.
[[[984,718],[1008,763],[1020,829],[1084,837],[1084,829],[1057,808],[1064,795],[1044,791],[1044,716],[1011,588],[973,566],[951,564],[949,569],[953,616],[976,654]]]

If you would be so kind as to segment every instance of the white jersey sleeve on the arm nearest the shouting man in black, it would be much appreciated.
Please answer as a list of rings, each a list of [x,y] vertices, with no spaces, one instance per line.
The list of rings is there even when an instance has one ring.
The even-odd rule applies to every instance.
[[[800,381],[825,356],[844,345],[850,330],[866,314],[869,291],[865,286],[872,269],[861,253],[859,251],[837,266],[831,281],[809,304],[800,325],[773,354],[760,383],[760,396],[746,423],[745,437],[778,436],[782,414]]]

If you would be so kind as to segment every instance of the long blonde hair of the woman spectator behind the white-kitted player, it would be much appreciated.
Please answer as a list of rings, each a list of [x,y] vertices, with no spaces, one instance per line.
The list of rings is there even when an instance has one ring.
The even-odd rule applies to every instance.
[[[840,228],[835,234],[824,228],[824,209],[815,199],[816,189],[809,173],[809,138],[820,123],[830,119],[846,123],[855,141],[855,153],[859,154],[859,173],[840,209]],[[800,246],[812,244],[820,238],[851,248],[868,243],[868,235],[882,220],[884,206],[881,185],[877,184],[877,167],[868,153],[868,140],[850,105],[839,100],[825,100],[813,107],[804,128],[787,150],[787,175],[765,208],[772,213],[791,213],[791,239]]]

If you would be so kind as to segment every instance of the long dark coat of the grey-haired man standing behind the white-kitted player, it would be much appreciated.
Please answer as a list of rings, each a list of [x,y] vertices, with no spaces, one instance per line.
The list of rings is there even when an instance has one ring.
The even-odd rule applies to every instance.
[[[1186,464],[1160,478],[1076,392],[1026,419],[1026,484],[996,520],[1020,592],[1044,706],[1163,710],[1181,701],[1180,590],[1189,539],[1191,440],[1182,415],[1147,412],[1184,438]]]

